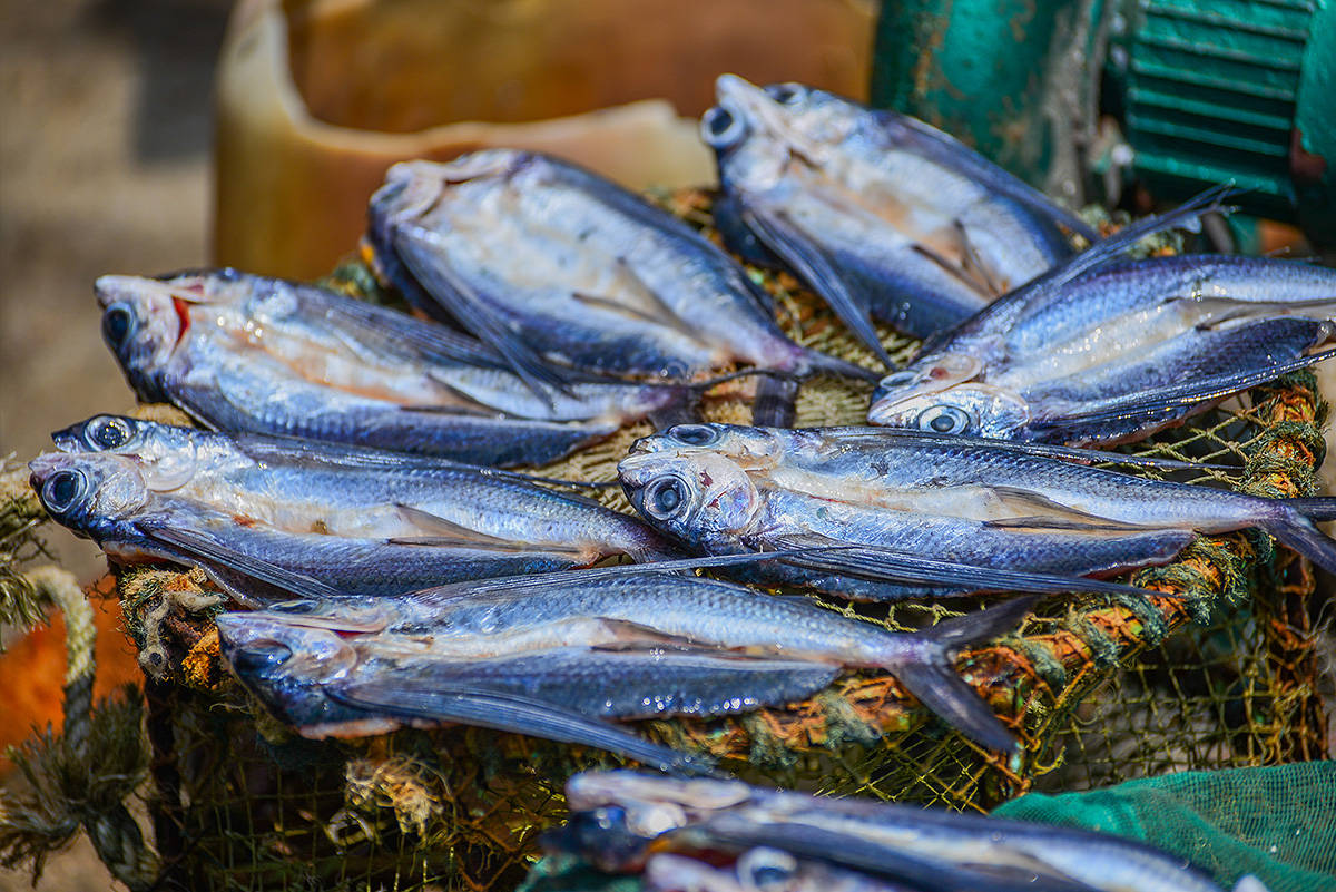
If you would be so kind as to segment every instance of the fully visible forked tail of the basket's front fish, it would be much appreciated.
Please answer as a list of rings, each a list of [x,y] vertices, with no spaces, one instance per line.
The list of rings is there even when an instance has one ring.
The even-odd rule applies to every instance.
[[[997,752],[1018,749],[1011,729],[955,672],[955,652],[973,642],[994,638],[1013,629],[1037,598],[1014,598],[979,613],[947,620],[919,633],[925,646],[918,660],[900,657],[888,666],[911,694],[970,740]]]

